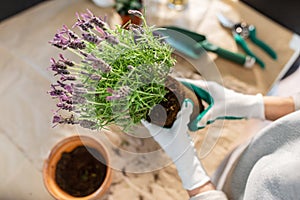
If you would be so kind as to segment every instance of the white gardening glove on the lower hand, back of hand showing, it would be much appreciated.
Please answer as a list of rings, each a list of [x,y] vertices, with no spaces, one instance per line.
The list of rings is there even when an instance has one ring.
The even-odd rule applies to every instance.
[[[190,121],[192,111],[193,102],[186,99],[171,128],[163,128],[142,121],[153,138],[174,162],[183,187],[187,190],[193,190],[210,181],[197,157],[194,143],[187,133],[187,124]]]

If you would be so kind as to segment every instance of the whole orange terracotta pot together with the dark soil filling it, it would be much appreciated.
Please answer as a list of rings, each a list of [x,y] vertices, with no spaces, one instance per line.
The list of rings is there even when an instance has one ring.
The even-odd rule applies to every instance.
[[[74,154],[74,152],[76,152],[77,154]],[[101,161],[99,161],[99,158]],[[71,165],[70,163],[69,165],[67,165],[66,164],[67,161],[72,162]],[[76,162],[78,163],[78,167],[76,167],[77,166]],[[87,168],[81,169],[83,168],[82,165],[84,165],[85,162]],[[103,164],[104,162],[105,164]],[[96,167],[92,167],[92,166],[96,166]],[[62,173],[62,174],[59,175],[58,173]],[[73,173],[73,174],[69,174],[69,173]],[[51,150],[48,159],[45,160],[44,167],[43,167],[44,184],[48,192],[55,199],[59,199],[59,200],[100,199],[110,187],[111,179],[112,179],[111,173],[112,170],[109,167],[109,157],[108,157],[107,150],[101,143],[88,136],[71,136],[57,143]],[[101,174],[101,178],[100,178],[100,174]],[[64,183],[63,185],[61,182],[62,177],[65,177],[65,175],[70,175],[68,179],[65,178],[67,182],[69,182],[70,179],[74,179],[75,186],[74,188],[71,188],[72,192],[70,192],[69,189],[65,189],[65,185],[68,185],[69,183],[66,184],[66,182],[63,182]],[[76,176],[80,178],[76,178]],[[94,188],[91,192],[90,192],[91,188],[85,190],[85,187],[87,185],[86,182],[87,180],[89,181],[88,184],[91,184],[90,182],[93,182]],[[76,187],[80,187],[80,189]],[[89,192],[84,196],[82,195],[82,191],[80,195],[77,194],[73,195],[74,194],[73,189],[74,190],[78,189],[78,192],[80,190],[85,190],[83,193],[87,191]]]

